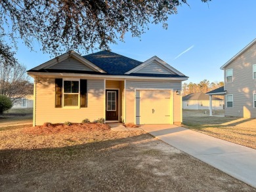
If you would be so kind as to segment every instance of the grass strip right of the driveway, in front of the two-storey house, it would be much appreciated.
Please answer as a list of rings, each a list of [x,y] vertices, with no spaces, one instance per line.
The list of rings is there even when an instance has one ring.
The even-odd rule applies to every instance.
[[[209,117],[200,110],[184,110],[183,124],[203,134],[256,149],[256,119]]]

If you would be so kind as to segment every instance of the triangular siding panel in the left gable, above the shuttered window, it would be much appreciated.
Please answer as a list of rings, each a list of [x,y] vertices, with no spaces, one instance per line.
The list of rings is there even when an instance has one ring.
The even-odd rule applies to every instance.
[[[49,67],[49,69],[66,69],[66,70],[77,70],[77,71],[93,71],[90,67],[85,66],[81,62],[75,60],[74,58],[68,58],[54,66]]]

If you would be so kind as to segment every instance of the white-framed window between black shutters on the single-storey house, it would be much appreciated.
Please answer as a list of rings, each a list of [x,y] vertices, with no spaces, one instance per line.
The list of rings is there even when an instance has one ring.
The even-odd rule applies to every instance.
[[[64,106],[78,106],[79,81],[64,80]]]

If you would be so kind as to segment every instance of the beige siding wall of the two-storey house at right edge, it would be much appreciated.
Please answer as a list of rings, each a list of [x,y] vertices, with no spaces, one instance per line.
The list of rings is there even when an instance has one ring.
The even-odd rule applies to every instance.
[[[225,115],[256,117],[253,107],[253,93],[256,93],[256,79],[253,79],[253,64],[256,64],[256,44],[248,48],[224,69],[224,90],[233,94],[233,107],[226,107]],[[233,82],[226,83],[226,69],[233,69]]]

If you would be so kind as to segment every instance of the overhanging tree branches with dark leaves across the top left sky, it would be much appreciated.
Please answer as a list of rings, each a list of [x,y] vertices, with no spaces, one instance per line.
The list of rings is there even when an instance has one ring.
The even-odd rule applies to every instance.
[[[186,0],[1,0],[0,54],[13,59],[4,51],[7,38],[12,45],[21,38],[30,48],[39,41],[50,54],[109,49],[116,39],[123,41],[127,31],[140,37],[150,23],[167,28],[168,16],[182,4]]]

